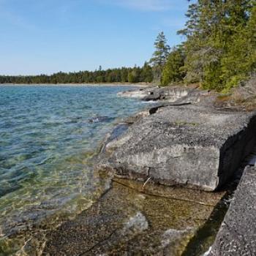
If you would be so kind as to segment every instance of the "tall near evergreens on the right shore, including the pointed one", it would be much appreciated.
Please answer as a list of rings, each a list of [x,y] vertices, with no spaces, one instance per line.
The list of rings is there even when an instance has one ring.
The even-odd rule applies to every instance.
[[[151,64],[162,86],[198,83],[225,92],[255,77],[255,0],[192,1],[178,34],[186,40],[171,50],[163,33],[155,42]]]

